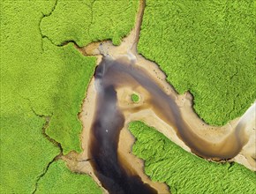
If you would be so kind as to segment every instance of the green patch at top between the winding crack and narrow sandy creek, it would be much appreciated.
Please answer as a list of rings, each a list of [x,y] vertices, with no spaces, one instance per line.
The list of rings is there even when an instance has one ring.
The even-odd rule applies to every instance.
[[[109,39],[117,45],[132,30],[138,7],[136,0],[59,0],[55,11],[42,19],[41,33],[57,45],[72,40],[85,46]]]

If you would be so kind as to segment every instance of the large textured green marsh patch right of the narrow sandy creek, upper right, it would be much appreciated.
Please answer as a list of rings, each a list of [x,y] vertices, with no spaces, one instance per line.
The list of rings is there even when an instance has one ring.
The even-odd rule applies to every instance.
[[[227,123],[256,99],[253,4],[146,1],[139,53],[160,65],[178,93],[193,94],[207,123]]]

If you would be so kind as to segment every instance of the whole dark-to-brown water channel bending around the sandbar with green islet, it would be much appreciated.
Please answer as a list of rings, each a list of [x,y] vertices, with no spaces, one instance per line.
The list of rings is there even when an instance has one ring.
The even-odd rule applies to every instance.
[[[177,136],[192,153],[213,160],[230,159],[240,152],[244,140],[232,133],[225,141],[212,144],[197,136],[183,120],[176,102],[162,91],[146,71],[132,64],[104,57],[95,73],[97,109],[91,129],[90,155],[95,174],[110,193],[155,193],[156,190],[132,175],[117,157],[119,133],[124,127],[124,116],[117,107],[117,89],[123,86],[142,86],[147,91],[147,108],[169,123]],[[145,106],[143,107],[145,108]],[[138,109],[139,110],[139,109]]]

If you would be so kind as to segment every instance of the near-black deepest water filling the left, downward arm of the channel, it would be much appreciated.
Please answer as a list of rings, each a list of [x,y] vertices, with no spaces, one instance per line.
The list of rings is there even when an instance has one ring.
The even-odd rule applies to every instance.
[[[115,86],[104,78],[104,65],[99,65],[94,77],[97,87],[97,110],[91,132],[91,163],[102,186],[109,193],[156,193],[156,190],[132,175],[117,157],[119,133],[124,127],[124,116],[117,108]]]

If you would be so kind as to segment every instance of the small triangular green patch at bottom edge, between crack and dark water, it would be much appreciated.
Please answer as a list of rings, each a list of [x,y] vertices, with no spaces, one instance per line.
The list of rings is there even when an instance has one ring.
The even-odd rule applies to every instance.
[[[63,160],[57,160],[49,166],[47,174],[41,177],[35,193],[100,194],[102,190],[89,175],[72,173]]]

